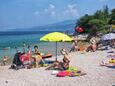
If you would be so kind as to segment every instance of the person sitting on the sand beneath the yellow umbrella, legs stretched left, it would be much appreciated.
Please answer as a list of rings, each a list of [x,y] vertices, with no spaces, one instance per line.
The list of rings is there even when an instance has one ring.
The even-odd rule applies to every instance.
[[[65,49],[62,49],[61,53],[63,55],[63,61],[59,62],[56,60],[51,66],[46,68],[46,70],[50,70],[50,69],[67,70],[69,68],[69,63],[70,63],[69,54]]]

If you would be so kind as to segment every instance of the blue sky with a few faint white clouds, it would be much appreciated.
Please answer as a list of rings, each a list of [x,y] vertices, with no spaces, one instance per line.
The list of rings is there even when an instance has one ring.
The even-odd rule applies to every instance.
[[[0,31],[43,26],[93,14],[115,0],[0,0]]]

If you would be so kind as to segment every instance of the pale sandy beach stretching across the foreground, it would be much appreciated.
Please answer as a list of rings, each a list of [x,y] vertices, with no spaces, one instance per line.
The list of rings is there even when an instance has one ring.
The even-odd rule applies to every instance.
[[[80,77],[56,77],[45,67],[16,71],[0,66],[0,86],[115,86],[115,69],[99,66],[107,55],[107,51],[70,53],[71,65],[87,73]]]

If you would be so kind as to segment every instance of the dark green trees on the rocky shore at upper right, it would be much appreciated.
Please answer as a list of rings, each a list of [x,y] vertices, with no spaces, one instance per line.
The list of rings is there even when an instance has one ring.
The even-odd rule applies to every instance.
[[[103,9],[97,10],[93,15],[84,15],[76,23],[84,29],[84,33],[89,33],[91,36],[96,36],[98,32],[106,33],[107,25],[115,24],[115,9],[109,13],[108,6]]]

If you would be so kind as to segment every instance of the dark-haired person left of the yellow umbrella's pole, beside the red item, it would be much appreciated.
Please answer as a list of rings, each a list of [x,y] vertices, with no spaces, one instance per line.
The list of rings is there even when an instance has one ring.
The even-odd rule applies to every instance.
[[[41,52],[38,50],[38,46],[34,46],[34,56],[32,56],[32,59],[34,60],[34,67],[38,67],[39,64],[45,63],[42,59]]]

